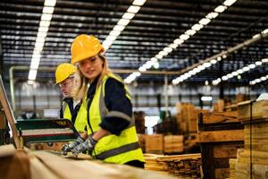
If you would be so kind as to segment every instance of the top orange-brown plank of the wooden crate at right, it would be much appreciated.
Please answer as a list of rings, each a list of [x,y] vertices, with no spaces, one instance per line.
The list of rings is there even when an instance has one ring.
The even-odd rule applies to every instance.
[[[232,123],[239,122],[237,111],[226,111],[222,113],[203,114],[203,124]]]

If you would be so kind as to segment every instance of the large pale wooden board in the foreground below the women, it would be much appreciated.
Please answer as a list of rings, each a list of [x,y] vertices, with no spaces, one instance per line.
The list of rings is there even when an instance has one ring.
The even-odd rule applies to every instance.
[[[159,175],[154,172],[140,170],[124,165],[103,164],[97,160],[73,160],[61,158],[44,151],[34,151],[35,156],[50,171],[60,178],[98,178],[98,179],[127,179],[127,178],[171,178],[168,175]]]

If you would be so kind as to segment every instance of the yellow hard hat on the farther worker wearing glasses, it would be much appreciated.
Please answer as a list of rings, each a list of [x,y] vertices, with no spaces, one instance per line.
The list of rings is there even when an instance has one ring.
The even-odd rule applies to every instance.
[[[74,72],[76,72],[76,67],[73,64],[64,63],[58,65],[55,72],[55,84],[66,80]]]

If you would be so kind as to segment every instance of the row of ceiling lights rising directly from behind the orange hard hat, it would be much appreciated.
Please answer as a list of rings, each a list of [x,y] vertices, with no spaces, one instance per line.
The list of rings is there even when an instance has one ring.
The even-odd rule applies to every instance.
[[[105,50],[112,46],[114,40],[120,36],[121,31],[126,28],[130,21],[134,18],[136,13],[140,10],[140,7],[146,3],[147,0],[134,0],[132,5],[128,8],[127,12],[121,16],[121,19],[117,21],[117,24],[110,31],[109,35],[105,38],[103,46]]]

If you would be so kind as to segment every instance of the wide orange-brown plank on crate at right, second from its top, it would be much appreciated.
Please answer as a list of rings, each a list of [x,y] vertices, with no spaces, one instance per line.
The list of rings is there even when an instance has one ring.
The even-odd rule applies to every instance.
[[[198,132],[199,142],[244,141],[244,130]]]

